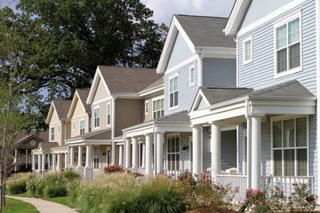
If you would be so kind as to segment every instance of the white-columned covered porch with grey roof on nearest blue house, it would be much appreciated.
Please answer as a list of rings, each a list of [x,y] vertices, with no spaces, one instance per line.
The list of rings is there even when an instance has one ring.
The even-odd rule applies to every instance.
[[[285,193],[292,183],[310,184],[315,190],[316,156],[309,147],[316,140],[316,98],[297,81],[253,91],[246,88],[200,88],[190,120],[193,131],[193,173],[204,172],[201,130],[211,128],[211,175],[220,184],[239,187],[239,201],[249,188],[277,185]],[[221,171],[221,130],[236,126],[236,172]]]

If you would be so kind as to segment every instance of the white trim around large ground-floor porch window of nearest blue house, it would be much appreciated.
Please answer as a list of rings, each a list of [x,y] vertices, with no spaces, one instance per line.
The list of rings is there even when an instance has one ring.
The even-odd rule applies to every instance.
[[[307,118],[307,176],[310,174],[309,170],[309,117],[308,115],[297,115],[297,116],[292,116],[292,115],[280,115],[276,117],[271,117],[270,121],[270,155],[271,155],[271,174],[273,173],[273,170],[275,169],[275,162],[274,162],[274,149],[273,149],[273,130],[272,130],[272,124],[273,122],[278,122],[278,121],[284,121],[284,120],[290,120],[290,119],[299,119],[299,118]],[[295,166],[296,169],[296,166]],[[272,174],[273,175],[273,174]],[[299,177],[299,176],[297,176]]]

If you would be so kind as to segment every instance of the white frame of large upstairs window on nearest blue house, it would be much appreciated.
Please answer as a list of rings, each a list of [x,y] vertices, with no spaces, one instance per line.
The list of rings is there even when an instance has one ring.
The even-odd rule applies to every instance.
[[[289,43],[289,31],[288,31],[288,25],[291,21],[299,19],[299,41]],[[285,26],[285,45],[283,47],[277,48],[277,36],[276,36],[276,30],[278,28]],[[301,25],[301,11],[298,12],[292,12],[292,14],[284,17],[282,20],[278,20],[274,24],[274,59],[275,59],[275,78],[283,77],[285,75],[291,75],[297,72],[302,71],[302,25]],[[298,67],[292,67],[290,68],[290,47],[294,46],[295,44],[299,43],[299,54],[300,54],[300,65]],[[285,51],[286,53],[286,70],[278,71],[278,52],[279,51]]]

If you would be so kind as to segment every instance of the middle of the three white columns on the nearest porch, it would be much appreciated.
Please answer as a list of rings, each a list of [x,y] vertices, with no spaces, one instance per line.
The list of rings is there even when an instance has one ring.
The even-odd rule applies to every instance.
[[[216,122],[212,122],[211,129],[212,180],[214,181],[221,171],[221,131],[220,125]]]

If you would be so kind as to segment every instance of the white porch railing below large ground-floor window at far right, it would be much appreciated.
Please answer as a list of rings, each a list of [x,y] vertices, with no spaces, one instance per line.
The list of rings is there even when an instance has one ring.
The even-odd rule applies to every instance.
[[[309,176],[268,176],[261,177],[261,186],[267,190],[272,190],[274,187],[279,187],[284,191],[284,196],[289,197],[294,192],[294,183],[308,184],[310,193],[315,192],[315,177]]]

